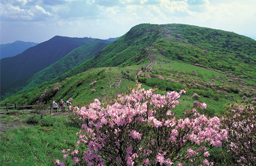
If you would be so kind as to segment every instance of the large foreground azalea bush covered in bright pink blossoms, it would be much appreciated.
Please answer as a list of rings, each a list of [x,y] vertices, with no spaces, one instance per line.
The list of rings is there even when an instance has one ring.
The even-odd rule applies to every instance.
[[[83,165],[212,165],[209,150],[221,147],[227,130],[218,117],[208,118],[196,109],[177,119],[172,109],[180,95],[154,90],[120,97],[111,105],[95,99],[88,108],[75,108],[83,130],[77,133],[77,149],[63,149],[65,162]],[[199,105],[203,109],[206,104]]]

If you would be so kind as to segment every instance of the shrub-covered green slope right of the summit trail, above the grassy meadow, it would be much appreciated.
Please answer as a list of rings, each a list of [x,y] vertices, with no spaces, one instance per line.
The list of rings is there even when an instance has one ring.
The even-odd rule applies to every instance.
[[[165,29],[163,35],[166,40],[172,41],[163,44],[166,55],[186,63],[200,63],[223,72],[256,79],[255,40],[205,27],[183,24],[161,27]]]

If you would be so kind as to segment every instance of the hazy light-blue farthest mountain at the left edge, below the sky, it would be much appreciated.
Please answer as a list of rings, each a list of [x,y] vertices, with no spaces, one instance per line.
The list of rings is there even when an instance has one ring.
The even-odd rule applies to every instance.
[[[0,45],[0,59],[4,57],[17,56],[17,54],[22,53],[24,50],[34,47],[38,43],[26,42],[17,40],[13,43],[1,44]]]

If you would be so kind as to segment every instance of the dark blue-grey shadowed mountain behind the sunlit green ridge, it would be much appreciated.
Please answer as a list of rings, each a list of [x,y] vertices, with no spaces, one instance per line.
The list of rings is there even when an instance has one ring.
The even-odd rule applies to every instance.
[[[95,41],[109,43],[109,41],[93,38],[55,36],[51,40],[25,50],[22,54],[1,59],[1,87],[40,72],[77,47]]]

